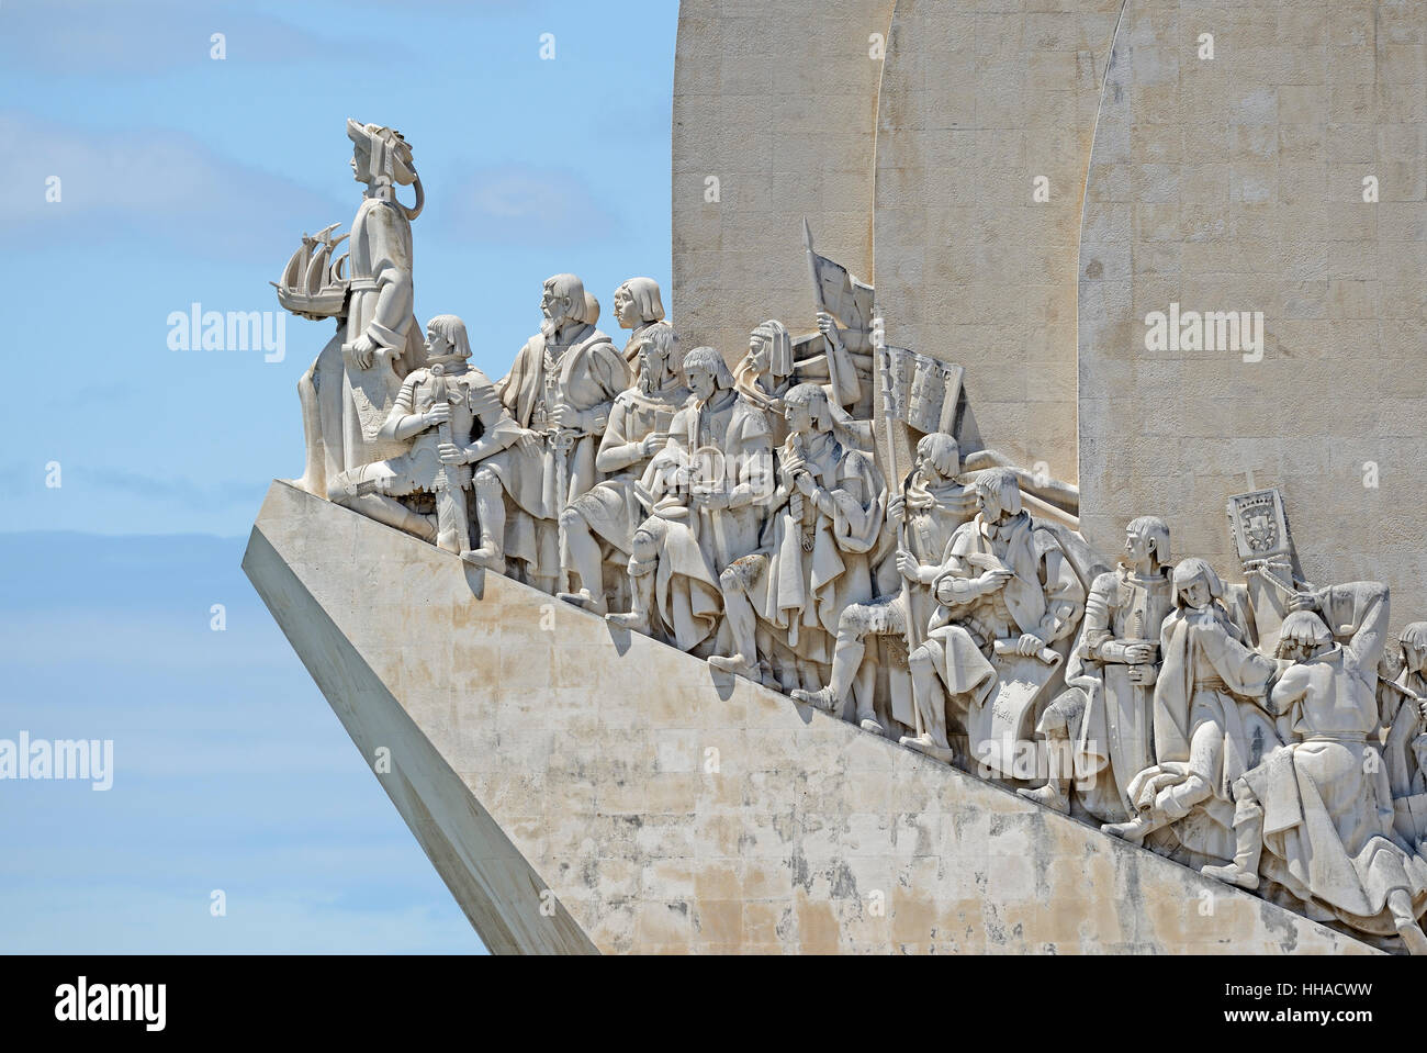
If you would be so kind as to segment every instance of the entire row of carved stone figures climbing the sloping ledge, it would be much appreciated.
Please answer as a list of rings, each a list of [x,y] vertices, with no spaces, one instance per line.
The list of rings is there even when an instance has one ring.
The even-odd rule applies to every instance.
[[[960,449],[959,387],[926,402],[918,380],[922,405],[888,398],[875,434],[870,392],[896,385],[890,368],[875,382],[886,351],[821,301],[816,331],[763,321],[726,357],[685,351],[658,284],[631,278],[612,298],[621,350],[584,283],[558,274],[539,331],[491,381],[459,318],[418,338],[410,147],[377,126],[348,134],[367,187],[350,278],[280,287],[290,310],[338,320],[300,384],[295,485],[714,676],[1427,953],[1427,622],[1388,653],[1384,585],[1293,576],[1274,492],[1240,495],[1243,584],[1176,564],[1154,517],[1127,525],[1110,569],[1073,529],[1072,487]],[[407,208],[394,190],[412,183]],[[811,235],[808,253],[815,274],[835,267]],[[323,304],[340,281],[338,312]]]

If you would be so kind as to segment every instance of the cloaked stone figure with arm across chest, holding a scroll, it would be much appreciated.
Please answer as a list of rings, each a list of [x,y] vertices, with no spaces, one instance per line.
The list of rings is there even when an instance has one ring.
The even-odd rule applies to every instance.
[[[972,755],[1005,770],[1006,743],[1023,733],[1015,725],[1060,662],[1050,645],[1079,625],[1085,586],[1055,534],[1022,509],[1013,471],[986,472],[976,495],[980,511],[946,546],[933,585],[939,606],[910,655],[922,731],[902,745],[950,762],[950,711]]]

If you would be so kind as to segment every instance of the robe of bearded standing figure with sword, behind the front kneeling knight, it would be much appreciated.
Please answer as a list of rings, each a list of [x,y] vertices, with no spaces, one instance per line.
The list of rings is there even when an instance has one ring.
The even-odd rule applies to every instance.
[[[548,434],[534,449],[515,444],[482,462],[501,479],[508,505],[514,505],[505,521],[507,558],[522,561],[529,574],[545,578],[557,576],[561,566],[555,521],[565,505],[598,482],[595,451],[614,400],[629,387],[624,355],[604,332],[579,322],[559,337],[562,342],[548,347],[542,334],[531,337],[495,390],[521,428],[548,432],[557,405],[585,414],[586,425],[565,454],[565,491],[559,492],[558,459]]]

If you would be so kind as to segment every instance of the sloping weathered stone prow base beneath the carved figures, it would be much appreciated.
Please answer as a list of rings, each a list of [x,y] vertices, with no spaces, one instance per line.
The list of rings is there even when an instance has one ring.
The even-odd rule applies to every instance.
[[[244,568],[492,950],[1370,950],[287,484]]]

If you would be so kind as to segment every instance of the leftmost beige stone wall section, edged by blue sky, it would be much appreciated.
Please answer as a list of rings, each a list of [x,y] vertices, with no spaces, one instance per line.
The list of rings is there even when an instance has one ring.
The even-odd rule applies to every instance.
[[[729,362],[765,318],[813,331],[818,251],[872,273],[878,81],[893,0],[682,0],[674,67],[674,310]],[[706,200],[718,180],[718,201]]]

